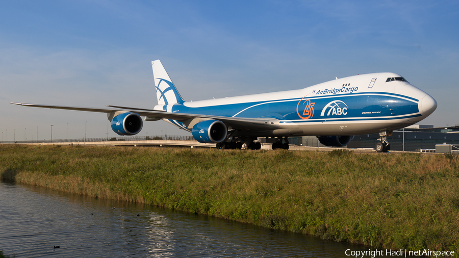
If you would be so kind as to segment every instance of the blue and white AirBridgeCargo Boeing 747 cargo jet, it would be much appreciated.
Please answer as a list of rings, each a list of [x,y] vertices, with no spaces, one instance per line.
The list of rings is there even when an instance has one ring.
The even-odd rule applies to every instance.
[[[298,90],[185,101],[160,60],[151,62],[158,105],[153,109],[83,108],[11,104],[106,113],[118,135],[136,135],[143,121],[164,120],[219,149],[260,149],[259,137],[276,138],[272,149],[288,149],[288,137],[317,136],[325,146],[346,146],[355,135],[379,133],[377,152],[388,152],[387,136],[415,124],[437,108],[429,94],[392,72],[353,75]],[[283,143],[284,140],[284,143]]]

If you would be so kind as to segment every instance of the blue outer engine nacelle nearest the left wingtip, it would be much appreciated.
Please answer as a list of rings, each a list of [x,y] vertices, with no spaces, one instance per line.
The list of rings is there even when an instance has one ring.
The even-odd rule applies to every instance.
[[[126,112],[113,117],[111,126],[118,135],[135,135],[142,130],[143,121],[139,115]]]

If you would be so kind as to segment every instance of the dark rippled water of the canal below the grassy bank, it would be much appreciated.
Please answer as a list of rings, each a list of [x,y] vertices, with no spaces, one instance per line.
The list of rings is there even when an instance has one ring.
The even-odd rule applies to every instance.
[[[368,250],[41,187],[0,183],[0,193],[0,249],[17,257],[344,257],[346,249]]]

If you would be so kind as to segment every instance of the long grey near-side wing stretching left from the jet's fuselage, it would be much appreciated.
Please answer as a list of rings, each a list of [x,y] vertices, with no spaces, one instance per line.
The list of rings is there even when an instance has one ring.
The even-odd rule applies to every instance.
[[[227,126],[232,127],[235,130],[274,130],[279,128],[279,120],[271,117],[263,118],[244,118],[244,117],[227,117],[227,116],[213,116],[213,115],[200,115],[200,114],[186,114],[186,113],[170,113],[161,110],[149,110],[149,109],[137,109],[127,108],[120,106],[107,106],[110,108],[85,108],[85,107],[70,107],[70,106],[54,106],[54,105],[41,105],[41,104],[26,104],[10,102],[14,105],[35,107],[35,108],[48,108],[48,109],[65,109],[65,110],[76,110],[76,111],[88,111],[110,114],[117,111],[129,111],[136,113],[139,116],[145,116],[146,120],[155,121],[160,119],[171,119],[180,122],[191,122],[193,119],[215,119],[220,120]]]

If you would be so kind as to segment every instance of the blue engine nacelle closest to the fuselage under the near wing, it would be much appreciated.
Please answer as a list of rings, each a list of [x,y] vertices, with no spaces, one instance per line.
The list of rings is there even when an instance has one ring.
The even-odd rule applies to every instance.
[[[205,120],[193,126],[191,134],[201,143],[219,143],[225,140],[228,128],[222,121]]]

